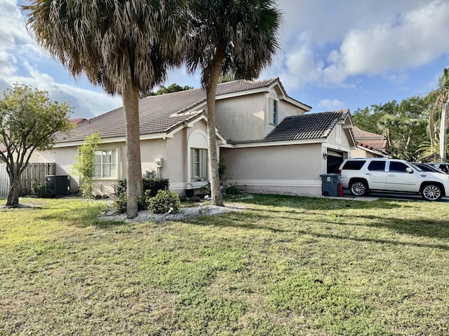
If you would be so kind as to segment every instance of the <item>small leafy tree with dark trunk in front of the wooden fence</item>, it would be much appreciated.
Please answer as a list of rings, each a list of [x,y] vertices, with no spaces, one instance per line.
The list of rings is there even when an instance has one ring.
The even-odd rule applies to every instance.
[[[67,103],[51,102],[46,91],[27,85],[14,85],[0,96],[0,142],[6,153],[0,158],[6,162],[11,187],[7,207],[19,205],[20,176],[34,151],[48,151],[53,147],[53,134],[72,129],[72,113]]]

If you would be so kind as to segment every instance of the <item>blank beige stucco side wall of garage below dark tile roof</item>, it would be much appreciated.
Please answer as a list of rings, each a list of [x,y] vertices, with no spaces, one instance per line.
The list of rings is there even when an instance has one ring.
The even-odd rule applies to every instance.
[[[321,144],[222,148],[227,183],[259,193],[321,195],[326,173]]]

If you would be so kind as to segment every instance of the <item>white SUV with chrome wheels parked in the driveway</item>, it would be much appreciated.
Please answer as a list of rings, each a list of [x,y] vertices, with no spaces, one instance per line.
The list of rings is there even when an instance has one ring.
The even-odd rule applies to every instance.
[[[404,160],[355,158],[340,165],[342,188],[352,195],[368,195],[370,190],[420,193],[424,200],[438,201],[449,197],[449,175],[424,172]]]

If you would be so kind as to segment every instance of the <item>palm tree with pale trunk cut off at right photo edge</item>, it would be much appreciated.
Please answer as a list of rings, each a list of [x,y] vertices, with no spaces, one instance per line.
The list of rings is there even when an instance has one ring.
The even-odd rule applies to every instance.
[[[446,162],[446,130],[448,129],[448,105],[449,105],[449,68],[443,70],[443,75],[438,80],[438,89],[431,91],[427,94],[427,102],[430,105],[429,110],[429,133],[431,138],[431,144],[435,144],[436,132],[436,116],[441,111],[440,118],[440,158],[443,162]]]

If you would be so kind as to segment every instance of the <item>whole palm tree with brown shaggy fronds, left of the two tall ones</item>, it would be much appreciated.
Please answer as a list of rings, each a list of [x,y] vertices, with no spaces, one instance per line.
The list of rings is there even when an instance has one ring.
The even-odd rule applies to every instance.
[[[178,64],[179,0],[28,0],[22,6],[36,41],[75,78],[86,75],[121,94],[126,118],[127,216],[142,195],[138,98]]]

